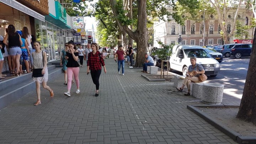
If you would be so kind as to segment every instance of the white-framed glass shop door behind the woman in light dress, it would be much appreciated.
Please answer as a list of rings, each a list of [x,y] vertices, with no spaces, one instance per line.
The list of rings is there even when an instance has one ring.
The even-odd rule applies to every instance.
[[[47,61],[55,60],[55,49],[54,49],[54,38],[53,38],[53,32],[47,31],[47,37],[48,37],[48,46],[49,51],[47,55]]]

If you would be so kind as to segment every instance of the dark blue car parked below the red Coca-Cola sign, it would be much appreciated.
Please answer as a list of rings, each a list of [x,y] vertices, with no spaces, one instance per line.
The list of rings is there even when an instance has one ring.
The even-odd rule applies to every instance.
[[[252,44],[236,44],[231,49],[231,55],[235,58],[250,57]]]

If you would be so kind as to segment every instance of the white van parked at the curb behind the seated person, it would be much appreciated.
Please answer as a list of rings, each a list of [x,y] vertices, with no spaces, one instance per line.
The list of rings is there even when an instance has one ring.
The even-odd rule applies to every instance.
[[[190,45],[175,45],[172,48],[172,55],[169,59],[170,68],[180,71],[183,75],[186,75],[188,66],[191,65],[190,58],[196,57],[196,63],[201,64],[207,76],[216,76],[219,74],[220,65],[217,60],[211,57],[211,55],[201,46]]]

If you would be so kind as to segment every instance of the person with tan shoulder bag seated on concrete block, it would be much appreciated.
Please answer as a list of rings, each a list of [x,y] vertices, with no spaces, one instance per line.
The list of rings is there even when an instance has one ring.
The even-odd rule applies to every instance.
[[[190,62],[192,65],[188,66],[188,71],[186,74],[186,78],[183,80],[182,87],[180,87],[180,89],[176,87],[178,91],[182,91],[184,86],[187,85],[188,92],[187,94],[185,94],[186,96],[190,95],[190,83],[199,82],[199,74],[204,74],[203,66],[196,63],[196,57],[190,58]]]

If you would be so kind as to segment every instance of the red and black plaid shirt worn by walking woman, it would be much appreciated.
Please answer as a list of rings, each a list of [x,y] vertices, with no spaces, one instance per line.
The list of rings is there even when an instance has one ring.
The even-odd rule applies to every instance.
[[[105,65],[101,53],[99,51],[97,51],[95,54],[90,52],[88,54],[87,62],[87,66],[90,66],[90,70],[101,70],[101,65]]]

